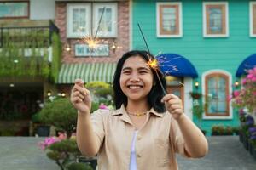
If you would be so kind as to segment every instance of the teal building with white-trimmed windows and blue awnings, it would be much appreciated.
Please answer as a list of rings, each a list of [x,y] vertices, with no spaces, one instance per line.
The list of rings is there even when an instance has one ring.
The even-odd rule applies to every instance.
[[[167,91],[183,99],[186,114],[210,135],[213,125],[239,125],[238,111],[229,98],[241,88],[237,68],[256,50],[255,17],[256,2],[247,0],[135,0],[131,48],[147,50],[139,23],[150,52],[160,55],[160,65],[170,69],[164,71]],[[197,76],[179,72],[188,68],[176,62],[180,58],[189,60]],[[198,112],[201,120],[195,116]]]

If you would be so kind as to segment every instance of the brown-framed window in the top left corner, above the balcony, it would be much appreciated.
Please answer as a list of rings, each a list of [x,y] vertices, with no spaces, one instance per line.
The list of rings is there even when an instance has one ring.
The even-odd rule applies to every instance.
[[[0,18],[28,18],[28,2],[0,3]]]

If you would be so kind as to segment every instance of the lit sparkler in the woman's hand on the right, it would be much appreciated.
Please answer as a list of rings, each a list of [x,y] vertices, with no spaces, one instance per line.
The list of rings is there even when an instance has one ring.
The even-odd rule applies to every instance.
[[[137,23],[137,26],[138,26],[138,28],[139,28],[139,30],[140,30],[142,36],[143,36],[143,40],[144,40],[144,42],[145,42],[145,44],[146,44],[146,47],[147,47],[147,49],[148,49],[148,54],[150,54],[150,51],[149,51],[149,48],[148,48],[148,43],[146,42],[146,39],[145,39],[145,37],[144,37],[144,35],[143,35],[143,31],[142,31],[142,29],[141,29],[141,26],[140,26],[139,23]],[[159,74],[158,74],[158,71],[160,71],[160,70],[159,70],[159,68],[158,68],[159,65],[158,65],[157,59],[149,59],[149,60],[148,60],[148,65],[149,65],[152,69],[154,69],[154,71],[155,71],[155,73],[156,73],[156,76],[157,76],[157,78],[158,78],[158,81],[160,82],[160,86],[161,86],[161,88],[162,88],[164,94],[166,95],[166,94],[167,94],[167,93],[166,93],[166,89],[164,88],[164,86],[163,86],[163,84],[162,84],[162,82],[161,82],[161,80],[160,80],[160,76],[159,76]],[[157,71],[157,70],[158,70],[158,71]]]

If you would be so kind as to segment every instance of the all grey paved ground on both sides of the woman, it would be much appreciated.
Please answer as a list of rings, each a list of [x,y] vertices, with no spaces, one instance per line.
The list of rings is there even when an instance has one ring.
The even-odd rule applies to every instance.
[[[0,170],[59,170],[44,151],[38,149],[43,138],[0,137]],[[202,159],[177,157],[180,170],[256,170],[256,160],[238,137],[209,137],[210,151]]]

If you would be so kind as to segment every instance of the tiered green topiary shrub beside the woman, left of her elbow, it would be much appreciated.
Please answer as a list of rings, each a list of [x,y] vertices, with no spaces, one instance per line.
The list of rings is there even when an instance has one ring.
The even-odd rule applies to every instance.
[[[65,134],[64,139],[61,137],[63,136],[63,133],[61,133],[59,137],[51,139],[53,144],[46,144],[48,150],[47,156],[54,160],[61,169],[79,167],[79,165],[74,163],[79,161],[81,153],[74,136],[72,137],[77,123],[77,111],[74,109],[70,100],[67,98],[56,98],[47,102],[39,112],[39,117],[42,122],[55,126]],[[85,163],[84,167],[86,165]],[[90,168],[88,167],[86,169]]]

